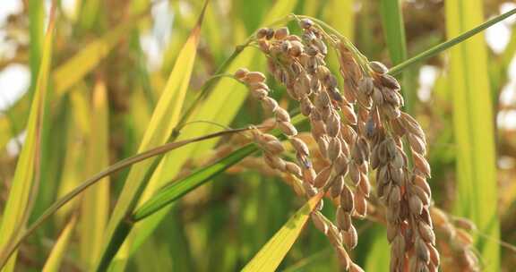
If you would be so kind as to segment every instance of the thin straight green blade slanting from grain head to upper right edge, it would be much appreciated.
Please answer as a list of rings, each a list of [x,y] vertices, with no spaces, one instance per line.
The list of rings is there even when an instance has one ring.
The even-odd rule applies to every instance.
[[[453,47],[468,38],[471,38],[472,36],[476,35],[477,33],[481,32],[483,30],[486,30],[487,28],[493,26],[495,23],[507,19],[508,17],[512,16],[515,13],[516,13],[516,8],[512,9],[511,11],[509,11],[507,13],[503,13],[499,16],[496,16],[495,18],[482,23],[481,25],[477,26],[476,28],[474,28],[472,30],[468,30],[455,38],[452,38],[446,42],[443,42],[442,44],[432,47],[432,48],[426,50],[425,52],[422,52],[419,55],[416,55],[416,56],[410,58],[409,60],[392,67],[391,70],[389,71],[389,73],[390,74],[400,73],[401,71],[405,70],[410,65],[416,64],[417,62],[425,60],[433,55],[437,55],[437,54],[443,52],[444,50],[446,50],[450,47]]]

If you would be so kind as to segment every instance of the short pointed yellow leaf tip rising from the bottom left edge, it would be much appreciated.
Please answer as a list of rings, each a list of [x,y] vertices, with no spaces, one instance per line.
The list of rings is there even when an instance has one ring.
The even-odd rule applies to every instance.
[[[64,255],[66,254],[66,249],[68,248],[68,243],[72,238],[73,229],[75,228],[76,224],[77,217],[73,216],[68,224],[64,226],[63,232],[59,235],[56,244],[52,248],[48,259],[45,262],[45,266],[42,270],[43,272],[60,271],[59,268],[61,268],[61,262],[63,261]]]

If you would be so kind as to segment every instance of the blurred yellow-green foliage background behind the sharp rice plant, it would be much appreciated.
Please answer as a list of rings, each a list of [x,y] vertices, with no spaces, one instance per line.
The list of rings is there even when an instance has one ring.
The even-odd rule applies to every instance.
[[[2,5],[7,2],[6,6],[16,8],[0,21],[2,210],[24,140],[49,6],[49,1],[39,0],[7,0]],[[57,3],[52,80],[41,134],[40,185],[29,221],[87,177],[137,153],[176,56],[202,10],[200,0]],[[515,6],[505,0],[407,0],[399,5],[387,0],[212,0],[202,24],[185,107],[237,45],[254,30],[288,13],[328,22],[369,59],[391,66]],[[396,13],[397,8],[401,13]],[[516,266],[514,247],[499,242],[501,237],[503,242],[516,243],[513,22],[514,18],[503,21],[402,74],[408,110],[427,134],[435,205],[477,223],[476,244],[486,271],[511,271]],[[338,71],[336,59],[330,65]],[[265,71],[265,58],[248,47],[228,72],[239,66]],[[287,106],[284,89],[274,82],[271,86],[276,87],[272,96]],[[245,88],[222,80],[190,121],[236,128],[267,118],[253,99],[246,98]],[[218,130],[211,123],[191,123],[180,139]],[[159,167],[156,179],[170,180],[205,165],[207,157],[224,154],[225,141],[209,140],[173,151]],[[64,232],[69,241],[60,268],[88,270],[127,174],[128,170],[111,175],[110,182],[106,179],[60,209],[22,244],[17,268],[42,268]],[[134,235],[141,245],[131,248],[124,266],[128,271],[238,270],[302,204],[276,175],[250,162],[240,164],[139,226],[146,234]],[[78,206],[78,220],[70,219]],[[383,226],[364,220],[357,228],[359,246],[354,259],[367,271],[387,269],[389,250]],[[335,271],[334,258],[325,237],[308,225],[280,270]],[[452,260],[443,259],[447,261]]]

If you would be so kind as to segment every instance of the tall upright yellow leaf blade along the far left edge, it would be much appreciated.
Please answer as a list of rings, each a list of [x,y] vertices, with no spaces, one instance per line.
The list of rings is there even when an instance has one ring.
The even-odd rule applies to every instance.
[[[18,159],[14,172],[12,187],[9,191],[7,203],[4,208],[2,225],[0,226],[0,247],[15,237],[18,230],[25,226],[25,221],[30,214],[27,208],[30,206],[30,194],[35,183],[38,183],[39,151],[41,131],[43,126],[43,114],[45,112],[45,98],[47,95],[48,71],[52,58],[52,41],[54,35],[54,14],[50,15],[41,64],[39,67],[38,81],[34,93],[32,106],[30,106],[29,123],[27,124],[27,138],[23,144],[22,153]],[[13,271],[15,254],[8,262],[4,271]]]

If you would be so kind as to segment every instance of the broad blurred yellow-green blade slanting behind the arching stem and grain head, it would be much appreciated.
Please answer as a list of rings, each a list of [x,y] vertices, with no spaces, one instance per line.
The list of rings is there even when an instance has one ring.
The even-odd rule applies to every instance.
[[[266,15],[264,21],[262,21],[262,25],[269,25],[274,20],[291,13],[296,5],[297,0],[278,1],[271,7],[270,12]],[[250,69],[256,67],[254,60],[258,58],[258,52],[251,48],[240,53],[243,49],[243,47],[237,47],[236,53],[239,54],[232,55],[231,61],[226,62],[223,65],[224,70],[219,72],[234,72],[240,67],[248,67]],[[202,105],[197,106],[197,112],[193,113],[193,115],[185,121],[207,120],[222,125],[231,123],[247,97],[247,90],[244,86],[232,79],[222,79],[212,87],[211,91],[206,93],[206,98],[202,101]],[[231,101],[231,103],[228,103],[228,101]],[[216,128],[213,126],[185,127],[181,132],[180,139],[188,139],[195,135],[211,133],[214,132],[214,130],[216,130]],[[157,173],[154,174],[150,180],[146,190],[143,192],[142,200],[138,206],[142,207],[144,201],[150,200],[150,197],[152,197],[161,186],[173,180],[189,157],[202,156],[207,150],[212,149],[216,143],[216,140],[210,140],[205,143],[186,147],[181,150],[181,152],[168,154],[159,166]],[[166,171],[164,171],[165,169]],[[135,231],[131,235],[133,236],[133,244],[131,245],[130,254],[138,249],[167,213],[168,208],[165,208],[159,211],[159,213],[146,218],[144,222],[136,225]],[[126,259],[126,257],[124,258]]]

